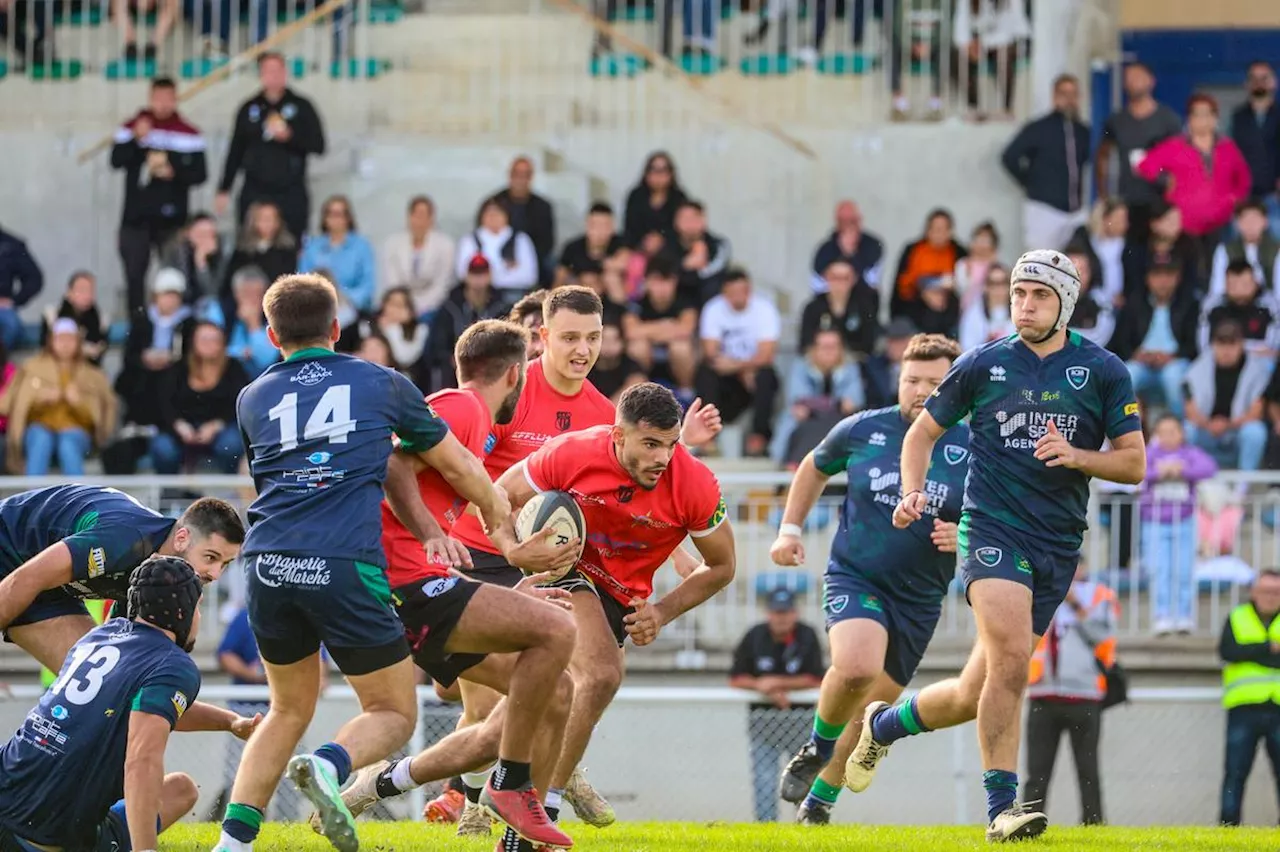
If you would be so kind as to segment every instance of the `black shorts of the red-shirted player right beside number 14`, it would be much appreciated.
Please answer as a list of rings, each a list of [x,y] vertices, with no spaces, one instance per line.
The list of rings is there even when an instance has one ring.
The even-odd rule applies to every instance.
[[[413,663],[444,687],[488,654],[449,654],[444,650],[480,583],[461,577],[433,577],[392,591],[392,603],[404,624]]]

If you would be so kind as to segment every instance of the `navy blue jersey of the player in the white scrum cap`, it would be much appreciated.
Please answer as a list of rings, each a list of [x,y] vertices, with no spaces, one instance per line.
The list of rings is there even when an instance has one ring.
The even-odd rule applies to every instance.
[[[1124,362],[1075,331],[1044,358],[1018,335],[970,349],[925,408],[943,427],[970,418],[965,513],[1066,550],[1079,549],[1088,528],[1089,477],[1047,467],[1034,457],[1036,441],[1051,420],[1073,446],[1087,450],[1142,429]]]

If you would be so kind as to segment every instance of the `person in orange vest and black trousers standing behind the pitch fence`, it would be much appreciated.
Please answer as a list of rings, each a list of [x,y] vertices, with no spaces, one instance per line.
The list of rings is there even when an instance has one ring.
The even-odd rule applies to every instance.
[[[1102,824],[1102,777],[1098,739],[1102,734],[1102,700],[1107,679],[1102,670],[1115,663],[1116,594],[1089,580],[1084,559],[1066,600],[1032,655],[1027,683],[1027,801],[1048,807],[1062,734],[1071,738],[1071,756],[1080,788],[1080,823]]]

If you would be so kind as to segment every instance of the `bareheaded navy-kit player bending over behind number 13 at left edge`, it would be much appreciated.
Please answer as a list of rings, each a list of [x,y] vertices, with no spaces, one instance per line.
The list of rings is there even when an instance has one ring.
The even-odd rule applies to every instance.
[[[123,601],[129,576],[151,554],[182,556],[202,582],[221,577],[244,541],[225,500],[196,500],[177,521],[99,485],[55,485],[0,500],[0,628],[5,641],[56,672],[96,627],[84,600]],[[182,730],[229,730],[256,720],[197,704]]]

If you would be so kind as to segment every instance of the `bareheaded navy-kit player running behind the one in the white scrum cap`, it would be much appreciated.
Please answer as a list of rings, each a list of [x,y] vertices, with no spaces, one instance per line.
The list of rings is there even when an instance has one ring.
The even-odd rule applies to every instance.
[[[831,821],[845,759],[856,739],[852,729],[869,701],[896,701],[910,683],[955,577],[956,521],[969,471],[968,426],[948,429],[933,450],[924,485],[929,523],[896,530],[893,507],[900,496],[902,438],[959,354],[960,347],[941,334],[911,338],[902,353],[897,404],[842,420],[800,462],[791,484],[769,554],[786,567],[804,562],[800,525],[827,480],[849,475],[824,577],[831,668],[822,681],[809,742],[780,782],[782,798],[803,800],[799,823]],[[846,730],[852,719],[858,722]]]

